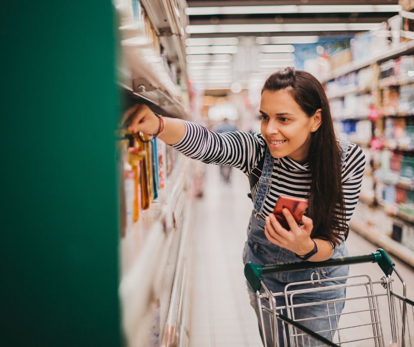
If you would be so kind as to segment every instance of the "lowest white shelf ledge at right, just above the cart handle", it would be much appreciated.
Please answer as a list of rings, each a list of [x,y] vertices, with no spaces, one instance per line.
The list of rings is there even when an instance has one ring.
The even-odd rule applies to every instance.
[[[351,221],[350,229],[414,267],[414,251],[402,243],[397,242],[387,235],[379,233],[373,230],[372,227],[363,225],[362,223]]]

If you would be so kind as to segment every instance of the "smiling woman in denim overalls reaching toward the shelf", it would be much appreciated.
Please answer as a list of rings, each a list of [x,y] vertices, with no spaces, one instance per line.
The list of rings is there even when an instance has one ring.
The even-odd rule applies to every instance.
[[[153,134],[162,128],[162,120],[146,106],[131,109],[129,115],[132,115],[129,130],[134,132]],[[253,169],[256,173],[259,170],[260,180],[251,186],[254,210],[243,251],[244,262],[323,261],[348,255],[344,241],[359,197],[365,158],[357,145],[336,140],[321,84],[311,74],[293,67],[275,72],[263,86],[260,117],[261,133],[254,134],[241,131],[218,134],[191,122],[165,118],[159,138],[205,163],[232,166],[248,176]],[[287,209],[283,210],[290,231],[282,228],[272,214],[282,195],[308,199],[307,216],[303,216],[300,226]],[[272,292],[281,292],[291,282],[309,280],[311,272],[273,274],[264,281]],[[347,276],[348,267],[320,269],[318,275]],[[249,294],[258,315],[255,293],[249,289]],[[295,303],[341,297],[345,297],[345,289],[313,291],[298,295]],[[294,315],[295,319],[327,316],[340,314],[342,309],[343,303],[335,307],[305,306],[296,309]],[[339,316],[302,323],[332,340],[329,330],[337,326],[335,317]],[[272,346],[269,322],[266,320],[265,324],[267,344]],[[284,346],[282,334],[279,339]]]

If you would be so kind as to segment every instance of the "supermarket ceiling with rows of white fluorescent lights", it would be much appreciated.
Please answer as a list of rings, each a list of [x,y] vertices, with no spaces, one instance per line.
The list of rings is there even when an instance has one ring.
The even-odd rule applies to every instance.
[[[278,48],[275,47],[275,44],[286,46],[290,43],[300,43],[295,36],[349,38],[358,32],[379,28],[379,23],[398,14],[399,11],[398,0],[187,0],[187,3],[189,26],[186,31],[190,34],[191,39],[225,38],[225,41],[221,43],[220,40],[219,42],[217,40],[201,41],[201,43],[197,43],[195,40],[187,41],[189,46],[204,46],[204,48],[187,47],[187,62],[197,60],[197,58],[188,58],[190,55],[196,56],[204,53],[205,57],[210,57],[205,60],[207,62],[204,65],[204,76],[197,78],[193,76],[192,78],[199,84],[203,84],[209,68],[213,68],[211,65],[214,65],[212,61],[215,60],[213,57],[215,54],[227,53],[233,58],[241,54],[252,55],[251,50],[255,50],[253,46],[259,47],[261,50],[259,50],[259,54],[267,53],[263,51],[263,44],[266,46],[273,44],[273,47],[267,47],[267,49],[276,49],[277,51]],[[231,42],[232,39],[229,38],[235,37],[238,38],[238,43],[226,43],[226,40]],[[262,41],[255,40],[257,37],[260,37],[258,40]],[[250,39],[249,42],[253,42],[248,52],[241,47],[246,44],[246,38]],[[228,47],[221,48],[220,45]],[[233,52],[230,48],[232,45],[237,46],[238,51],[234,49],[236,52]],[[282,49],[282,46],[279,46]],[[283,52],[289,53],[290,51],[288,49],[287,52]],[[220,84],[224,86],[223,88],[240,79],[240,76],[235,75],[234,63],[236,60],[240,62],[244,59],[233,58],[230,59],[232,62],[228,62],[227,65],[228,78],[226,82]],[[194,71],[194,65],[190,67],[189,76],[191,79],[191,69]],[[222,66],[222,69],[225,68]],[[220,72],[225,72],[225,70]],[[247,72],[249,71],[243,71],[244,74]],[[198,71],[198,74],[201,72]],[[206,82],[204,85],[214,88],[215,76],[217,77],[217,75],[212,75],[211,78],[208,78],[208,83]],[[219,84],[216,83],[216,85]]]

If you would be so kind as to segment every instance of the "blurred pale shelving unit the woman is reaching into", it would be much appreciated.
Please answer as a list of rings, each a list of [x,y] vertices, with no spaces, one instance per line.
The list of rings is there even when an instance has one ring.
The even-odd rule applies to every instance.
[[[190,119],[183,29],[188,24],[186,1],[117,0],[116,7],[121,108],[146,104],[156,113]],[[167,147],[160,146],[165,159]],[[158,199],[139,212],[120,240],[122,328],[130,346],[188,344],[190,160],[175,153],[174,163],[169,174],[162,163],[165,186],[158,190]]]

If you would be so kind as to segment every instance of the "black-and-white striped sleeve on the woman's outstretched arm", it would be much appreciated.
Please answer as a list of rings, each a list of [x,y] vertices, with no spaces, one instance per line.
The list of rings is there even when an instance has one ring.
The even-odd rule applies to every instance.
[[[264,153],[264,139],[257,132],[216,133],[199,124],[184,123],[184,137],[172,147],[189,158],[207,164],[231,166],[248,175]]]

